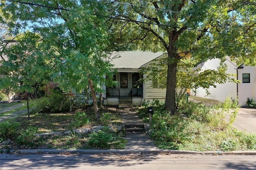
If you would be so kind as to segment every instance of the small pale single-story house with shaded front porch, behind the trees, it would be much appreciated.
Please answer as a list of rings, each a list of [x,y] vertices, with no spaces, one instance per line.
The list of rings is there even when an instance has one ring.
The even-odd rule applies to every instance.
[[[149,51],[122,51],[116,52],[119,55],[112,59],[114,69],[118,73],[114,75],[114,80],[118,82],[118,86],[106,88],[104,94],[104,103],[106,105],[133,105],[140,106],[144,100],[164,100],[166,88],[160,86],[152,86],[152,81],[138,84],[138,80],[144,75],[139,74],[142,67],[147,67],[151,63],[156,62],[154,59],[163,59],[168,57],[167,53]]]

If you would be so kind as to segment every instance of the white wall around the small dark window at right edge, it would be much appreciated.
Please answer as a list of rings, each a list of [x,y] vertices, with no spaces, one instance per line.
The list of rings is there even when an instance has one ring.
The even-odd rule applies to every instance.
[[[245,106],[247,98],[256,99],[256,67],[255,66],[244,66],[238,69],[238,80],[241,81],[238,84],[238,100],[241,106]],[[242,74],[250,73],[250,83],[243,83]]]

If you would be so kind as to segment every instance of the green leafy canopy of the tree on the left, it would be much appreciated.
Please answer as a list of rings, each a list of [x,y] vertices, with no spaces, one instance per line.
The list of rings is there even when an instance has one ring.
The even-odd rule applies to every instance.
[[[104,61],[108,37],[104,21],[92,15],[100,10],[94,1],[6,1],[0,8],[17,41],[1,52],[8,57],[1,68],[8,75],[1,80],[5,86],[54,81],[66,92],[81,91],[90,78],[102,91],[113,73]]]

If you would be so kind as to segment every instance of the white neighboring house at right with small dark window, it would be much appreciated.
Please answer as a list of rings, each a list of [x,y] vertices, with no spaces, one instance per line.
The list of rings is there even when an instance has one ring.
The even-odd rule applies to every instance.
[[[199,64],[198,67],[201,68],[201,71],[206,69],[216,70],[220,66],[220,62],[220,59],[212,59]],[[256,98],[256,67],[245,66],[244,64],[237,66],[229,57],[226,57],[224,63],[228,68],[226,72],[237,75],[234,78],[240,80],[240,84],[234,82],[216,84],[216,88],[209,88],[210,95],[207,95],[203,88],[191,89],[191,94],[220,102],[224,102],[227,97],[235,99],[238,95],[238,104],[240,106],[246,106],[247,98]]]

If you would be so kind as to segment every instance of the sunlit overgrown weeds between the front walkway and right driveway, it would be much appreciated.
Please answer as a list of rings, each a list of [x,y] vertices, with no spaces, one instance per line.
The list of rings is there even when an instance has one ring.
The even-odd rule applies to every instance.
[[[145,104],[139,110],[146,120],[147,106]],[[159,148],[195,151],[256,149],[256,135],[231,126],[238,113],[237,101],[226,99],[223,104],[210,107],[181,101],[179,106],[174,114],[162,111],[162,106],[154,111],[149,134]]]

